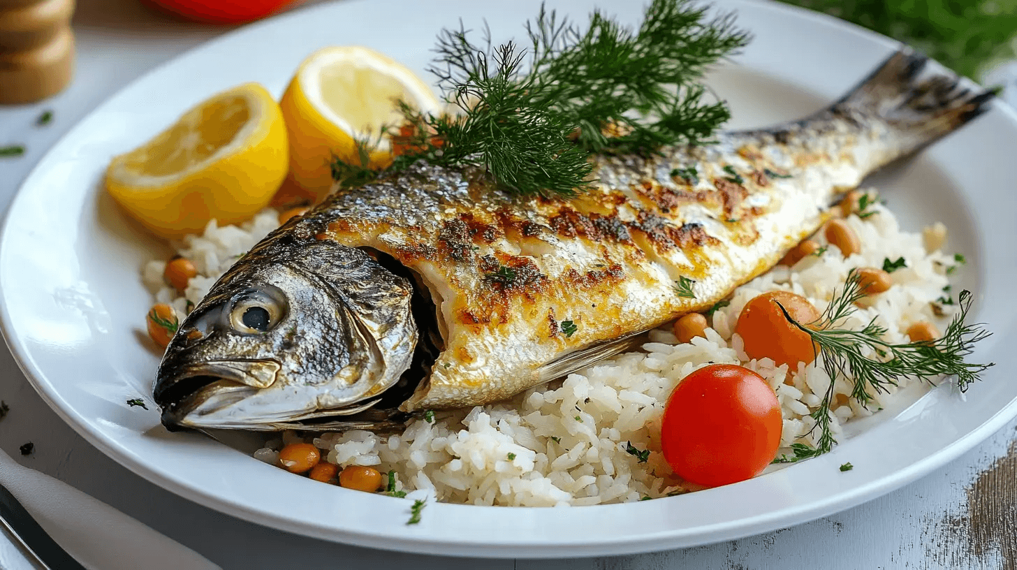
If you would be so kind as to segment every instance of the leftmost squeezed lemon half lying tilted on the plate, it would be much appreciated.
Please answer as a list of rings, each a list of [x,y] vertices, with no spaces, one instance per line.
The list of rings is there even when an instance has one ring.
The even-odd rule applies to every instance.
[[[200,233],[264,208],[289,165],[283,114],[258,83],[220,93],[141,147],[114,157],[106,188],[157,235]]]

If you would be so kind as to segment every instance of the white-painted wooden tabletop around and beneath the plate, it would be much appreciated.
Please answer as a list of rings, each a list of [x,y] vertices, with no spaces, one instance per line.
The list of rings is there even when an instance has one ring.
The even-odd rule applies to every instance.
[[[296,8],[300,9],[300,8]],[[79,0],[77,74],[50,101],[0,107],[0,208],[45,152],[108,96],[176,54],[228,32],[153,13],[137,0]],[[37,126],[44,110],[53,120]],[[1005,379],[1005,376],[1004,376]],[[538,570],[718,568],[1017,570],[1017,421],[957,461],[885,497],[792,528],[707,547],[640,556],[477,560],[394,554],[272,530],[181,499],[127,471],[74,434],[0,348],[0,447],[200,552],[223,568],[468,568]],[[18,447],[35,443],[22,457]],[[265,490],[271,493],[272,490]],[[2,550],[2,549],[0,549]],[[138,568],[143,568],[138,561]]]

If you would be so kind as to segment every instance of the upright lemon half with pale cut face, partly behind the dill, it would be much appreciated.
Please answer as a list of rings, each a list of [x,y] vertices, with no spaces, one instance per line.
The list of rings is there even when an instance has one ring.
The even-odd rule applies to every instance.
[[[402,100],[424,112],[439,104],[431,89],[412,71],[361,47],[331,47],[307,57],[286,89],[280,106],[290,139],[290,175],[311,197],[332,187],[330,165],[338,158],[359,164],[357,140],[377,142],[368,166],[392,161],[390,140],[379,134],[399,126]]]

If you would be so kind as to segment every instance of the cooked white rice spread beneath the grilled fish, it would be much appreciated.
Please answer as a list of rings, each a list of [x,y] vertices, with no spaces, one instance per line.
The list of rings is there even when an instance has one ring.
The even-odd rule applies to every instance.
[[[955,307],[944,306],[937,318],[931,303],[948,284],[946,269],[953,259],[941,247],[946,228],[936,224],[922,233],[901,231],[897,220],[882,206],[865,220],[846,221],[857,232],[860,253],[844,259],[837,247],[822,256],[806,256],[793,268],[777,267],[738,288],[730,304],[713,315],[707,338],[677,344],[669,330],[651,332],[644,351],[618,355],[570,375],[562,381],[535,388],[493,405],[436,411],[434,421],[410,421],[399,435],[378,436],[363,431],[322,434],[309,439],[340,466],[370,465],[397,473],[397,489],[420,491],[439,501],[476,505],[558,506],[638,501],[695,491],[676,478],[660,453],[663,405],[678,382],[709,362],[747,366],[776,391],[784,417],[781,445],[815,445],[811,432],[816,409],[830,378],[815,363],[796,369],[775,366],[769,358],[749,359],[741,339],[732,334],[744,304],[771,290],[789,290],[809,298],[820,310],[843,285],[852,268],[882,267],[885,259],[904,258],[907,267],[891,273],[894,286],[873,297],[847,323],[860,329],[870,320],[888,330],[887,340],[907,342],[904,331],[918,321],[943,328]],[[163,283],[165,262],[149,262],[142,277],[159,302],[171,303],[182,318],[188,303],[197,303],[212,284],[236,260],[277,226],[277,213],[265,210],[240,227],[208,224],[202,236],[187,236],[177,251],[190,259],[199,275],[190,280],[183,297]],[[822,232],[814,237],[826,244]],[[926,247],[931,250],[926,250]],[[902,382],[903,388],[907,382]],[[849,397],[845,379],[834,385],[832,429],[868,416],[884,407],[898,389],[873,394],[866,408]],[[843,437],[838,437],[843,439]],[[293,433],[268,442],[254,457],[277,463],[278,450],[298,441]],[[649,449],[640,463],[625,451],[631,443]],[[782,452],[787,452],[786,449]]]

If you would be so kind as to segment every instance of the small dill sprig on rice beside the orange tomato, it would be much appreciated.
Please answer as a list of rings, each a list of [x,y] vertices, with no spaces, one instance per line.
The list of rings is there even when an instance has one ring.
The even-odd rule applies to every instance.
[[[995,365],[993,362],[977,364],[964,359],[971,353],[974,343],[991,334],[982,329],[980,324],[967,325],[964,322],[971,306],[970,291],[960,292],[958,296],[960,310],[954,316],[941,338],[906,344],[893,344],[883,340],[887,329],[877,324],[876,319],[870,321],[860,331],[836,328],[856,310],[855,301],[864,296],[858,274],[855,270],[851,270],[847,274],[844,288],[834,294],[823,316],[810,327],[795,322],[778,303],[784,312],[784,318],[807,334],[819,346],[819,357],[822,358],[823,368],[831,380],[819,406],[810,414],[816,420],[813,430],[820,431],[817,446],[811,448],[804,444],[794,444],[791,446],[794,458],[788,459],[785,456],[775,460],[776,462],[793,462],[833,449],[837,442],[830,429],[830,407],[838,377],[852,379],[850,396],[862,406],[866,406],[872,401],[874,391],[886,392],[888,387],[897,386],[897,381],[904,377],[914,377],[928,382],[940,376],[955,377],[957,387],[963,392],[972,382],[978,380],[981,372]],[[881,359],[866,354],[879,355]]]

